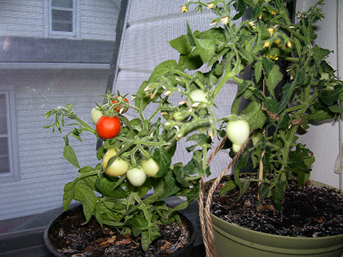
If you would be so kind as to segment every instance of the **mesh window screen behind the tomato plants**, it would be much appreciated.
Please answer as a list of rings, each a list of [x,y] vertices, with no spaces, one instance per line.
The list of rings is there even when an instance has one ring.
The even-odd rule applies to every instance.
[[[114,93],[119,90],[132,95],[157,64],[178,60],[178,53],[168,41],[186,34],[187,22],[193,31],[209,29],[213,17],[206,8],[201,14],[181,13],[184,2],[128,1],[126,19],[120,13],[119,0],[54,0],[49,5],[40,0],[0,1],[0,93],[3,88],[12,90],[7,121],[10,119],[10,134],[16,147],[8,151],[10,158],[17,161],[15,178],[9,180],[0,173],[2,232],[46,225],[44,222],[54,217],[42,215],[62,206],[64,184],[78,174],[63,158],[62,137],[43,130],[51,124],[44,119],[45,112],[76,103],[75,112],[91,123],[91,110],[95,102],[102,102],[100,95],[106,92],[109,77],[115,78],[113,85],[109,83]],[[52,16],[52,27],[47,10]],[[116,29],[117,21],[123,36],[115,41],[120,31]],[[75,26],[74,38],[49,33],[50,29],[74,33]],[[113,56],[117,59],[110,66]],[[216,99],[222,109],[215,112],[227,111],[233,101],[235,85],[227,88]],[[2,99],[1,110],[7,108]],[[173,101],[178,103],[180,99]],[[127,118],[134,118],[134,114],[127,112]],[[1,145],[5,144],[3,138]],[[82,145],[76,139],[69,143],[82,167],[97,164],[93,135],[84,134]],[[188,162],[190,156],[184,148],[178,148],[174,162]],[[227,153],[218,156],[214,173],[222,171],[228,161]],[[5,167],[5,158],[1,165]]]

